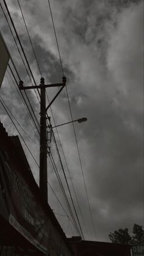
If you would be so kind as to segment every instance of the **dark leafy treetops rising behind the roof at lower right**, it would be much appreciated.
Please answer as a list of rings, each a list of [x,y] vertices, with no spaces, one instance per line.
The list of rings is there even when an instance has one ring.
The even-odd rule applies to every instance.
[[[131,237],[129,235],[129,230],[126,229],[118,229],[113,233],[110,232],[109,239],[112,243],[116,244],[140,244],[144,243],[144,230],[142,226],[134,224],[132,233],[134,236]]]

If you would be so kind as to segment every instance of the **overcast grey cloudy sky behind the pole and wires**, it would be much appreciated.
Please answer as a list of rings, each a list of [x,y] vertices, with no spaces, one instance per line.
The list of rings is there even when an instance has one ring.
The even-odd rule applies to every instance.
[[[10,13],[23,44],[37,84],[40,72],[27,36],[20,8],[16,0],[7,0]],[[3,1],[2,7],[7,14]],[[46,83],[61,82],[62,69],[52,28],[48,1],[21,1],[26,24],[31,35],[41,73]],[[77,153],[72,125],[58,128],[62,148],[59,147],[63,166],[73,194],[74,203],[86,240],[109,241],[110,232],[134,223],[143,225],[143,1],[132,0],[51,0],[62,64],[67,76],[67,89],[73,119],[87,117],[85,123],[75,123],[77,142],[81,155],[88,198],[95,224],[88,210],[81,164]],[[7,47],[25,86],[31,85],[26,70],[10,34],[0,8],[0,28]],[[11,64],[10,64],[11,65]],[[12,66],[12,65],[11,65]],[[1,97],[32,142],[18,126],[24,140],[38,159],[38,133],[21,102],[21,98],[7,68],[1,88]],[[17,78],[18,81],[18,78]],[[56,93],[47,89],[51,100]],[[39,103],[34,92],[29,98],[39,119]],[[1,108],[1,122],[10,135],[16,135],[12,122]],[[52,104],[51,122],[54,125],[71,120],[65,89]],[[57,136],[57,133],[56,137]],[[21,142],[23,144],[23,141]],[[59,142],[57,142],[59,143]],[[60,143],[59,143],[60,146]],[[38,167],[29,152],[27,159],[38,183]],[[53,142],[51,152],[60,177],[62,170]],[[71,186],[67,165],[76,190],[85,225],[82,221]],[[63,207],[59,183],[48,159],[48,180]],[[65,182],[63,181],[63,186]],[[67,186],[65,186],[67,191]],[[48,189],[49,204],[67,236],[70,221],[59,202]],[[69,196],[68,196],[69,197]],[[68,210],[67,210],[68,211]]]

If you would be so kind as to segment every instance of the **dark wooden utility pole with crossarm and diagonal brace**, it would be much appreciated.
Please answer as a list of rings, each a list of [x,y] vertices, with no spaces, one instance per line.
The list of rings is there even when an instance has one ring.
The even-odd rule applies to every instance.
[[[46,133],[46,111],[49,109],[51,104],[56,100],[62,89],[66,85],[67,79],[65,76],[62,78],[60,84],[45,84],[45,79],[40,79],[39,86],[23,86],[23,81],[19,83],[20,90],[28,89],[40,89],[40,192],[41,197],[45,202],[48,202],[48,174],[47,174],[47,133]],[[55,97],[51,100],[49,105],[46,107],[46,88],[47,87],[61,87],[56,93]]]

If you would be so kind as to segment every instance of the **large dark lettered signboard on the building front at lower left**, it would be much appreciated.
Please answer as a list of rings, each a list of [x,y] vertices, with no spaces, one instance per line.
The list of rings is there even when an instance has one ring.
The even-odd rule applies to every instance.
[[[0,214],[40,251],[48,254],[48,218],[23,177],[11,170],[0,150]]]

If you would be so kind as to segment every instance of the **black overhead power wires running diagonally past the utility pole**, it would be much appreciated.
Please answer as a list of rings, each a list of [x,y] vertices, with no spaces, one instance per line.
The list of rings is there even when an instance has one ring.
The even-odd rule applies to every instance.
[[[59,43],[58,43],[58,40],[57,40],[56,29],[55,29],[55,26],[54,26],[54,19],[53,19],[53,16],[52,16],[52,10],[51,10],[51,5],[50,5],[49,0],[48,0],[48,4],[49,4],[49,10],[50,10],[50,13],[51,13],[52,26],[54,28],[54,35],[56,37],[56,45],[57,45],[57,49],[58,49],[58,53],[59,53],[60,65],[62,67],[62,75],[65,76],[64,71],[63,71],[63,65],[62,65],[62,58],[60,56],[60,49],[59,49]],[[40,76],[42,77],[40,65],[38,64],[37,55],[35,54],[34,46],[32,44],[31,36],[29,34],[29,30],[27,28],[26,20],[24,18],[24,13],[23,13],[23,10],[21,9],[21,5],[20,5],[20,1],[19,0],[18,0],[18,6],[20,8],[21,16],[23,17],[24,25],[26,27],[27,35],[29,37],[29,42],[31,43],[32,51],[33,51],[35,60],[37,62],[37,67],[38,67]],[[18,50],[18,53],[20,54],[21,60],[23,62],[24,68],[25,68],[26,73],[27,73],[27,77],[29,78],[29,81],[31,82],[32,86],[36,86],[37,84],[36,84],[34,75],[32,73],[32,69],[31,69],[31,66],[29,64],[29,60],[27,59],[26,53],[24,51],[24,48],[23,48],[23,45],[21,43],[20,37],[18,35],[18,32],[16,31],[15,24],[13,22],[12,16],[10,14],[9,8],[8,8],[7,3],[5,2],[5,0],[3,0],[3,5],[0,3],[0,7],[1,7],[2,13],[3,13],[4,17],[5,17],[5,20],[7,22],[7,25],[9,27],[10,33],[11,33],[11,35],[13,37],[13,40],[15,42],[16,48]],[[11,79],[12,84],[15,86],[15,90],[16,90],[15,92],[17,92],[18,95],[19,95],[20,104],[23,104],[23,108],[24,109],[25,108],[27,109],[28,114],[29,114],[29,118],[30,118],[30,120],[32,122],[31,125],[34,125],[35,132],[39,136],[39,134],[40,134],[40,124],[38,122],[37,116],[35,115],[34,108],[33,108],[32,104],[31,104],[31,101],[29,100],[29,95],[27,95],[26,91],[24,90],[24,92],[22,92],[21,90],[19,90],[17,79],[19,79],[19,81],[21,81],[21,78],[20,78],[20,75],[19,75],[19,73],[18,73],[18,71],[17,71],[17,69],[15,67],[15,64],[13,62],[12,57],[10,57],[10,59],[11,59],[11,65],[9,64],[9,71],[7,70],[9,78]],[[40,92],[39,92],[39,90],[35,89],[34,93],[35,93],[35,96],[37,98],[38,104],[40,104]],[[72,115],[72,111],[71,111],[70,100],[69,100],[69,97],[68,97],[67,86],[66,86],[66,93],[67,93],[67,98],[68,98],[68,106],[70,108],[71,120],[73,121],[73,115]],[[48,98],[47,92],[46,92],[46,96],[47,96],[47,99],[48,99],[48,102],[49,102],[49,98]],[[12,123],[15,126],[16,130],[18,131],[18,134],[20,134],[20,137],[23,140],[24,144],[26,145],[27,150],[29,151],[29,153],[31,153],[31,150],[29,149],[28,145],[24,141],[23,136],[21,135],[20,130],[23,131],[23,133],[27,137],[29,137],[29,139],[32,140],[31,136],[29,136],[29,134],[27,134],[26,131],[24,131],[23,127],[20,125],[20,122],[18,122],[18,120],[16,120],[15,116],[12,114],[12,112],[8,108],[7,104],[5,104],[4,100],[2,100],[2,97],[0,97],[0,103],[2,104],[2,107],[4,108],[4,110],[7,113],[7,115],[9,115],[10,120],[12,121]],[[51,109],[51,114],[52,114],[52,118],[53,118],[54,124],[56,125],[52,109]],[[19,126],[20,129],[18,129],[17,126]],[[83,180],[84,180],[84,188],[85,188],[85,193],[86,193],[86,197],[87,197],[88,208],[90,210],[90,218],[92,219],[93,231],[94,231],[94,234],[95,234],[95,237],[96,237],[95,225],[94,225],[94,222],[93,222],[92,210],[90,208],[90,201],[88,199],[87,186],[86,186],[86,183],[85,183],[84,170],[83,170],[83,167],[82,167],[81,156],[80,156],[79,147],[78,147],[78,144],[77,144],[77,137],[76,137],[76,130],[74,128],[74,123],[73,123],[73,130],[74,130],[74,137],[75,137],[75,141],[76,141],[77,153],[78,153],[78,156],[79,156],[79,161],[80,161],[80,166],[81,166],[82,177],[83,177]],[[57,129],[56,129],[56,131],[57,131]],[[65,153],[63,151],[63,147],[62,147],[62,143],[60,141],[60,136],[59,136],[58,131],[57,131],[57,136],[58,136],[58,139],[59,139],[60,148],[62,150],[64,159],[65,159],[65,163],[66,163],[66,166],[67,166],[67,169],[68,169],[67,160],[65,158]],[[56,140],[56,137],[55,137],[55,134],[54,134],[53,130],[52,130],[52,139],[54,141],[56,152],[57,152],[57,155],[59,157],[60,166],[62,168],[62,173],[63,173],[63,177],[64,177],[64,180],[65,180],[65,185],[67,186],[67,189],[68,189],[67,191],[68,191],[71,203],[70,203],[70,200],[68,199],[68,196],[67,196],[67,194],[65,192],[65,187],[63,186],[62,178],[60,178],[59,171],[57,170],[56,161],[54,160],[54,156],[52,156],[51,152],[49,153],[49,159],[51,161],[52,167],[53,167],[54,172],[56,174],[57,180],[59,181],[60,188],[62,189],[62,194],[63,194],[63,197],[64,197],[65,202],[67,204],[67,208],[68,208],[69,214],[67,213],[67,211],[63,207],[62,203],[60,203],[60,200],[57,197],[56,192],[54,192],[54,189],[52,189],[52,186],[49,183],[48,183],[48,185],[51,188],[52,192],[54,193],[54,196],[56,196],[56,199],[59,201],[63,211],[65,212],[66,216],[68,217],[68,220],[70,220],[71,223],[73,224],[74,229],[76,230],[76,233],[79,234],[80,236],[82,236],[83,239],[85,239],[84,232],[83,232],[82,227],[81,227],[81,222],[79,221],[79,214],[77,214],[76,206],[74,205],[74,200],[73,200],[73,196],[71,194],[70,185],[68,184],[67,176],[65,174],[65,169],[63,167],[62,159],[61,159],[60,152],[59,152],[59,147],[57,145],[57,140]],[[38,163],[35,160],[34,155],[32,155],[32,153],[31,153],[31,156],[32,156],[32,158],[34,159],[35,163],[38,166]],[[82,215],[82,210],[81,210],[81,207],[79,205],[79,201],[77,199],[76,190],[74,188],[73,180],[71,178],[70,170],[69,169],[68,169],[68,175],[70,176],[71,185],[73,187],[74,196],[76,197],[76,202],[77,202],[77,205],[78,205],[78,208],[79,208],[79,213],[80,213],[81,218],[82,218],[82,223],[83,223],[83,225],[85,227],[85,231],[86,231],[87,236],[88,236],[87,227],[86,227],[85,222],[84,222],[84,217]]]

